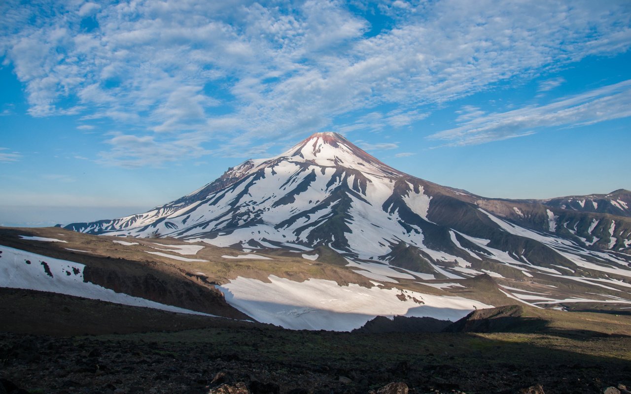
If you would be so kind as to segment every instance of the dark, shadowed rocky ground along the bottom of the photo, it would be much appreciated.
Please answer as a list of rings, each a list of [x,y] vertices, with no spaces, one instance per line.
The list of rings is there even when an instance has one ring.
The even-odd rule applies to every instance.
[[[380,394],[611,394],[631,386],[625,335],[314,332],[226,319],[205,326],[1,332],[0,377],[8,393],[367,394],[401,383]]]

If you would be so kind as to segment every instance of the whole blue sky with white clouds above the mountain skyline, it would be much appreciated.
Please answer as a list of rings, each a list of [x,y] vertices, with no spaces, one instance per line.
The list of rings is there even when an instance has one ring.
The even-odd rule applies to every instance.
[[[0,2],[0,225],[148,211],[314,132],[486,197],[631,189],[631,3]]]

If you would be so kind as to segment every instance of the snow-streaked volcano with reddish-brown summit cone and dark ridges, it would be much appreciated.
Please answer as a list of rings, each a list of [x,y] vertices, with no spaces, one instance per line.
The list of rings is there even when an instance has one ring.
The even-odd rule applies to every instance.
[[[620,253],[631,245],[627,217],[443,187],[395,170],[331,132],[274,158],[247,160],[144,214],[66,228],[240,248],[330,248],[374,278],[392,266],[423,279],[485,272],[631,277],[631,258]]]

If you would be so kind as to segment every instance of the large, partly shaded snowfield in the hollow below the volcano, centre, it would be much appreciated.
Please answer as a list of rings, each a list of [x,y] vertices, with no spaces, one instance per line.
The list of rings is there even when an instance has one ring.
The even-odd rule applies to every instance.
[[[429,316],[458,320],[475,308],[490,305],[456,296],[435,296],[399,289],[367,289],[357,284],[309,279],[294,282],[270,275],[270,283],[237,277],[218,286],[232,306],[259,322],[285,328],[350,331],[375,316]],[[406,301],[397,298],[406,296]],[[413,298],[423,301],[416,303]]]

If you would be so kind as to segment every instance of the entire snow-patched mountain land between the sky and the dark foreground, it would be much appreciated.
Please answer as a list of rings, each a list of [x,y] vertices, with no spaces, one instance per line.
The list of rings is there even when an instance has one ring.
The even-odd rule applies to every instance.
[[[481,197],[317,133],[142,214],[0,231],[0,286],[344,331],[510,304],[628,313],[630,195]]]

